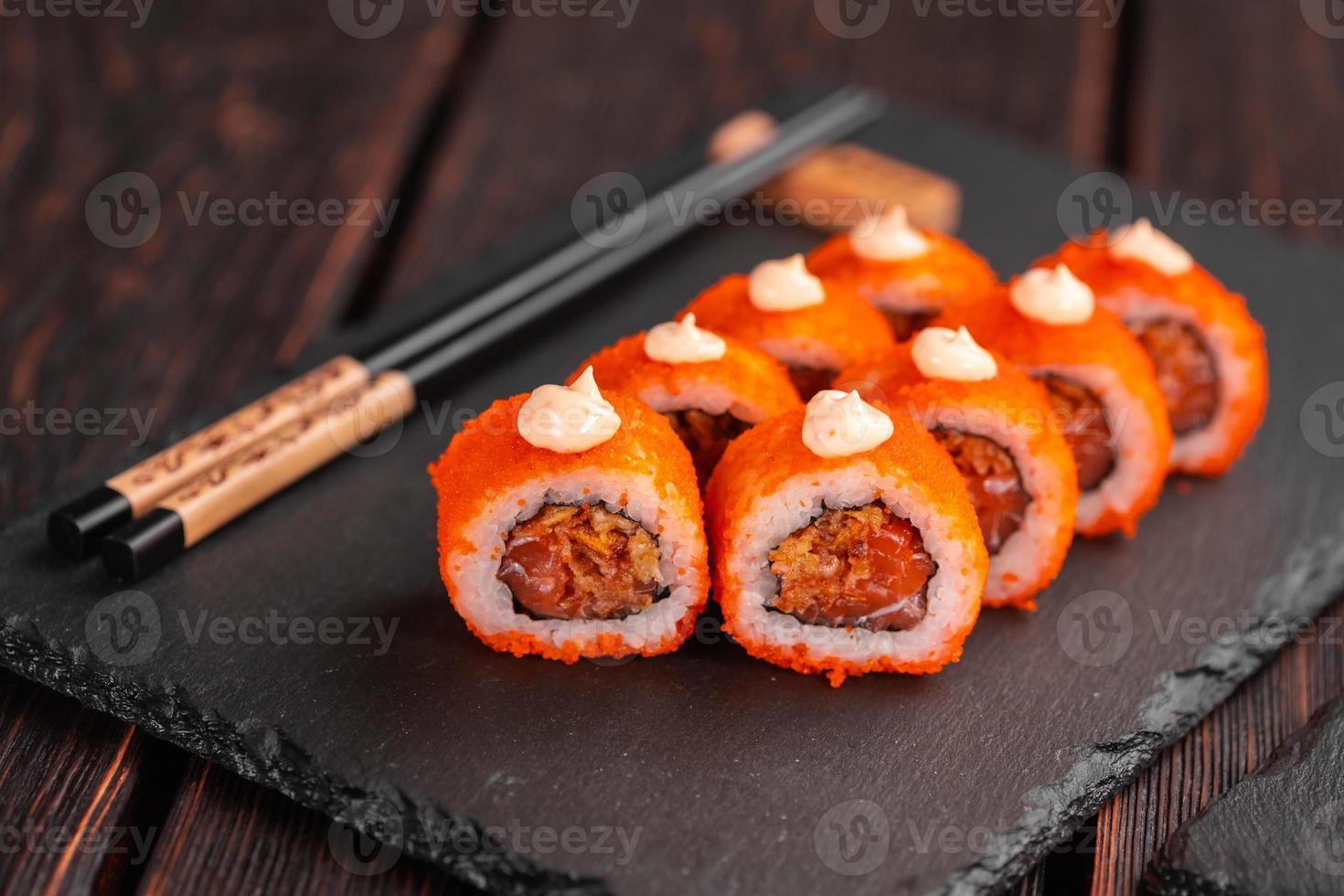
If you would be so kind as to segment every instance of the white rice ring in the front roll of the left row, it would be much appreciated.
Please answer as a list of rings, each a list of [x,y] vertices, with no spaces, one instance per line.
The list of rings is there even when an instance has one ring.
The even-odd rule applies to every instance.
[[[517,631],[556,649],[573,643],[585,656],[597,656],[601,634],[618,634],[632,650],[659,645],[676,631],[706,587],[699,572],[704,540],[698,520],[688,514],[685,496],[668,488],[669,493],[659,494],[650,478],[589,469],[501,493],[466,532],[474,551],[444,559],[444,575],[453,584],[458,613],[482,634]],[[601,504],[641,524],[659,540],[659,578],[669,594],[624,619],[536,619],[515,611],[512,591],[496,578],[504,540],[516,523],[531,519],[543,504]]]

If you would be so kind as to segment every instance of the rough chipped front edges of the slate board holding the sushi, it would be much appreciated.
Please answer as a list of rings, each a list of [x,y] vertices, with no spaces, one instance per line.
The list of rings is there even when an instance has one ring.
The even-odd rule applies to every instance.
[[[1189,731],[1199,719],[1271,657],[1286,637],[1279,625],[1322,611],[1344,586],[1344,517],[1339,531],[1298,551],[1257,591],[1266,606],[1278,594],[1279,606],[1234,642],[1203,652],[1198,665],[1168,673],[1157,682],[1136,731],[1106,743],[1079,747],[1068,774],[1030,797],[1035,806],[1019,823],[999,832],[991,849],[956,872],[939,895],[1004,892],[1031,870],[1052,846],[1073,832],[1121,787],[1134,779],[1157,754]],[[1282,595],[1290,594],[1285,602]],[[1278,634],[1274,639],[1271,635]],[[1263,635],[1263,637],[1261,637]],[[99,712],[138,725],[151,735],[271,787],[290,799],[376,836],[407,854],[437,864],[449,875],[501,893],[595,895],[609,892],[598,880],[547,870],[508,850],[453,852],[452,832],[482,829],[474,821],[401,791],[368,791],[329,775],[278,728],[257,720],[234,721],[203,711],[176,682],[148,682],[101,666],[83,649],[43,638],[22,615],[0,623],[0,664],[17,674],[65,693]],[[153,707],[153,709],[151,709]],[[382,817],[383,806],[399,811]],[[388,829],[403,832],[388,834]],[[433,834],[433,836],[430,836]]]

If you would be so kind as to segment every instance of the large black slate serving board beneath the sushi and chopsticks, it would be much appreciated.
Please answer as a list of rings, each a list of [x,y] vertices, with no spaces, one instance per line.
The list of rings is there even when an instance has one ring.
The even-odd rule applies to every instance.
[[[1001,274],[1063,238],[1081,172],[909,109],[862,142],[958,180],[962,236]],[[515,660],[444,595],[425,465],[453,414],[554,382],[719,275],[818,239],[782,226],[660,253],[136,592],[48,553],[40,514],[15,521],[0,660],[492,888],[1000,891],[1263,662],[1285,634],[1269,623],[1344,582],[1344,261],[1171,230],[1266,326],[1265,427],[1228,477],[1169,486],[1133,541],[1078,544],[1039,613],[984,614],[938,676],[833,690],[712,625],[657,660]],[[388,649],[359,619],[395,621]]]

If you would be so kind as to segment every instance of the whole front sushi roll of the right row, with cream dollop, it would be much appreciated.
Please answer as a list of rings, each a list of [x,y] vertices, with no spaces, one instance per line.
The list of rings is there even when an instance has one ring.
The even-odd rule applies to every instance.
[[[839,686],[961,657],[989,559],[965,482],[931,435],[857,392],[743,433],[710,478],[724,630]]]

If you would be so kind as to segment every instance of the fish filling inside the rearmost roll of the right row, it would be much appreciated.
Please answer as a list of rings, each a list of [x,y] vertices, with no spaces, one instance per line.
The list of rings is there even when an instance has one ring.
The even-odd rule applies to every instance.
[[[1208,426],[1218,410],[1218,368],[1204,339],[1189,324],[1171,318],[1130,321],[1157,368],[1176,435]]]

